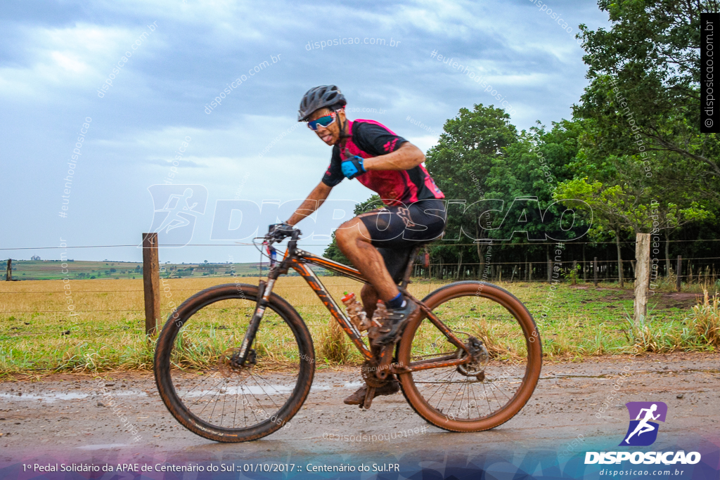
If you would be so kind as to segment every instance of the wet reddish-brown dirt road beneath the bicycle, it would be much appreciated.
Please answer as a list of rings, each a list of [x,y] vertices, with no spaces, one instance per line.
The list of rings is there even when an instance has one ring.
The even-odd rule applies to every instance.
[[[142,437],[137,442],[112,409],[102,404],[90,375],[6,380],[0,383],[0,461],[41,453],[96,458],[111,451],[117,458],[139,461],[158,455],[217,459],[238,452],[245,458],[345,455],[360,450],[392,456],[418,448],[444,450],[449,445],[467,453],[488,448],[588,450],[600,443],[618,445],[629,420],[624,404],[632,401],[667,404],[667,422],[660,429],[657,448],[678,445],[688,437],[714,439],[717,444],[719,368],[717,355],[690,353],[546,363],[539,386],[521,413],[482,433],[449,433],[429,425],[402,394],[379,397],[369,411],[350,407],[342,399],[359,386],[358,373],[318,371],[310,397],[289,428],[242,445],[212,443],[181,427],[158,397],[150,373],[112,373],[112,380],[105,382],[116,404],[136,425]],[[618,382],[623,370],[629,377]],[[611,407],[600,412],[608,396]],[[403,431],[385,439],[386,434]],[[344,439],[359,434],[368,435],[368,440]]]

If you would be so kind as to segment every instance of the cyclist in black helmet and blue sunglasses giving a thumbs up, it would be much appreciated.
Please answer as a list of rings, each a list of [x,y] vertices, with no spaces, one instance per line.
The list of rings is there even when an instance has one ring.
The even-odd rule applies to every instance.
[[[422,150],[379,122],[348,120],[346,103],[334,85],[317,86],[302,97],[297,120],[307,122],[320,140],[333,146],[333,153],[320,184],[276,230],[287,229],[315,212],[344,178],[357,178],[379,194],[382,208],[348,220],[335,232],[338,248],[369,281],[360,294],[366,313],[372,317],[379,299],[387,307],[380,335],[372,342],[377,351],[397,340],[403,322],[417,308],[402,297],[397,282],[402,279],[408,249],[442,234],[445,196],[422,165]],[[375,395],[398,389],[397,381],[390,379]],[[365,391],[362,387],[345,403],[362,404]]]

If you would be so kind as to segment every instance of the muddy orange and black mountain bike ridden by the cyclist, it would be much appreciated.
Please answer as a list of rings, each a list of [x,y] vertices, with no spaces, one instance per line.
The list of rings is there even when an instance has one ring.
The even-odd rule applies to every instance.
[[[255,440],[291,425],[310,392],[315,349],[300,314],[273,292],[290,269],[307,281],[364,359],[364,408],[372,404],[373,389],[392,376],[415,412],[445,430],[497,427],[528,402],[542,348],[533,317],[513,294],[482,281],[455,281],[419,300],[408,284],[420,247],[403,250],[399,254],[407,261],[398,288],[418,309],[399,340],[373,349],[311,267],[366,279],[354,268],[300,250],[300,235],[292,230],[279,261],[277,239],[264,237],[271,258],[266,281],[212,286],[168,317],[158,337],[155,379],[181,425],[220,442]]]

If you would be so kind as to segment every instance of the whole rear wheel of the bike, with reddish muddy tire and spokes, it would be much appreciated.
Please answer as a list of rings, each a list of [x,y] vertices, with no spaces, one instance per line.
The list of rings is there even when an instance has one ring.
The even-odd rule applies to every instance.
[[[480,281],[449,284],[423,303],[481,353],[462,366],[400,373],[405,399],[445,430],[477,432],[510,420],[530,399],[541,370],[540,335],[528,309],[510,292]],[[466,355],[424,314],[405,327],[397,349],[400,366],[411,368]]]

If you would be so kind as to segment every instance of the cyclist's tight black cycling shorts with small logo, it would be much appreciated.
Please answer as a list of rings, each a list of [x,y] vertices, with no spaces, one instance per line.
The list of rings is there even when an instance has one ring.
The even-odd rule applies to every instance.
[[[410,251],[442,235],[447,214],[443,200],[426,199],[409,207],[386,206],[358,217],[370,233],[372,245],[382,255],[390,276],[400,281]]]

